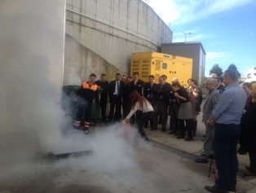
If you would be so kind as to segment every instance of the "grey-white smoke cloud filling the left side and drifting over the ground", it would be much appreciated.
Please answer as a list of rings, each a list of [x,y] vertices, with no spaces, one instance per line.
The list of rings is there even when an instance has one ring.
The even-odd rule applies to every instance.
[[[123,128],[113,132],[117,125],[95,128],[104,131],[93,136],[75,133],[67,126],[68,116],[56,105],[63,59],[61,3],[0,4],[0,165],[32,160],[37,151],[92,151],[90,156],[70,158],[64,164],[104,171],[133,167],[135,129],[128,139]],[[64,129],[68,129],[65,134]],[[139,143],[148,147],[142,140]]]

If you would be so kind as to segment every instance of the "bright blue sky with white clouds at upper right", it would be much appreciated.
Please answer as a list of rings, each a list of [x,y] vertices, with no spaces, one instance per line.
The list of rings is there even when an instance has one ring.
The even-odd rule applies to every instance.
[[[173,42],[201,42],[205,76],[235,64],[241,77],[256,66],[256,0],[148,0],[173,32]]]

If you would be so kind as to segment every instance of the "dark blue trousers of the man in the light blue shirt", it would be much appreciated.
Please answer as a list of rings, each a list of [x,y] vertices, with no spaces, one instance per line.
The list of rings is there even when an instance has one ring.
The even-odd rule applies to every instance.
[[[236,187],[238,160],[236,146],[240,137],[240,125],[216,124],[214,133],[214,156],[218,168],[216,188],[226,190]]]

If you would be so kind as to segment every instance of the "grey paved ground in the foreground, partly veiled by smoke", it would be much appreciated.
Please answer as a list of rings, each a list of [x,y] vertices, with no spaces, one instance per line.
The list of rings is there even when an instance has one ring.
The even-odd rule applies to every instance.
[[[68,148],[68,151],[93,151],[85,156],[59,159],[42,153],[32,156],[28,151],[31,145],[24,143],[25,136],[19,147],[16,147],[17,144],[6,146],[9,153],[7,156],[12,159],[0,162],[0,193],[201,193],[207,192],[205,185],[214,185],[213,174],[207,178],[207,164],[197,164],[193,156],[181,156],[170,151],[168,147],[145,143],[140,139],[139,145],[134,147],[133,136],[136,134],[133,130],[125,138],[125,129],[119,128],[113,132],[115,128],[117,125],[105,126],[99,122],[97,127],[91,127],[90,135],[72,131],[63,138],[60,148],[55,148],[55,153],[64,153]],[[200,123],[197,137],[190,142],[179,140],[167,132],[162,133],[160,128],[154,131],[145,130],[148,137],[157,142],[197,155],[202,151],[204,126]],[[17,141],[18,138],[17,135],[15,138],[11,135],[0,136],[1,147],[7,142]],[[22,148],[23,143],[25,149]],[[1,151],[0,155],[5,156],[4,153]],[[24,159],[24,155],[29,156],[29,159]],[[241,169],[249,164],[248,155],[239,156],[239,160]],[[238,178],[237,192],[256,192],[255,185],[255,178]]]

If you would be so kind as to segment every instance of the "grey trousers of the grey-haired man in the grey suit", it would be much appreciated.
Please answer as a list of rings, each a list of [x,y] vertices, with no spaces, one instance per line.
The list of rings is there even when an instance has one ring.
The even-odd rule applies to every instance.
[[[201,160],[208,160],[210,154],[214,154],[214,132],[215,127],[205,123],[204,151],[201,152]]]

